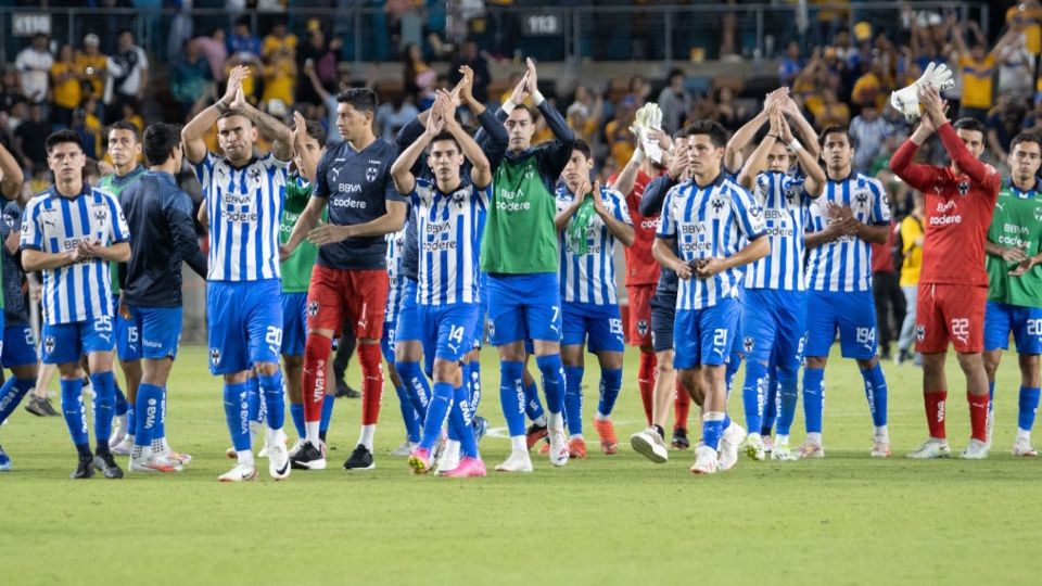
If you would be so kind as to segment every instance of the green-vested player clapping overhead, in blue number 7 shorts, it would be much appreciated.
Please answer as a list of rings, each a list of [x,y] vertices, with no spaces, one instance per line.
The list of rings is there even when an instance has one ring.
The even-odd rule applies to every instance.
[[[493,179],[492,205],[481,241],[481,270],[488,275],[492,344],[499,348],[499,400],[510,430],[511,450],[496,470],[531,472],[524,428],[524,340],[534,342],[549,411],[550,463],[568,463],[564,437],[564,369],[561,366],[561,300],[558,286],[557,203],[554,184],[572,155],[575,135],[539,92],[535,64],[496,116],[509,143]],[[555,140],[532,145],[536,114],[521,104],[525,95],[546,118]]]

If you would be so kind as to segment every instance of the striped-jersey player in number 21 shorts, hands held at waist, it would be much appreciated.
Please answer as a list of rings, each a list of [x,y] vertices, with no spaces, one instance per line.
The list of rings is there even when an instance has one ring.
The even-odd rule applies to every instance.
[[[727,131],[712,120],[691,125],[691,179],[670,190],[652,252],[681,279],[674,324],[674,366],[702,407],[702,445],[691,472],[734,466],[745,431],[727,418],[726,362],[736,335],[741,267],[763,258],[771,245],[763,211],[723,176]],[[748,244],[740,246],[742,238]],[[673,252],[673,241],[677,253]],[[723,455],[720,453],[723,451]]]

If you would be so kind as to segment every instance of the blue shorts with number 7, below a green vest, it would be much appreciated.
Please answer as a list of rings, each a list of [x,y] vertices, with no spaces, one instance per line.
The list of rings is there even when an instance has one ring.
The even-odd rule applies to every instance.
[[[493,346],[526,337],[561,341],[561,295],[556,272],[490,275],[490,336]]]

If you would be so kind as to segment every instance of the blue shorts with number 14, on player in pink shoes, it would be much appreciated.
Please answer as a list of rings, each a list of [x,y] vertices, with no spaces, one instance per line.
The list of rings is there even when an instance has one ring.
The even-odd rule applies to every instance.
[[[475,303],[418,305],[418,319],[404,326],[399,321],[397,333],[405,340],[419,340],[424,356],[458,362],[473,344],[479,310]]]

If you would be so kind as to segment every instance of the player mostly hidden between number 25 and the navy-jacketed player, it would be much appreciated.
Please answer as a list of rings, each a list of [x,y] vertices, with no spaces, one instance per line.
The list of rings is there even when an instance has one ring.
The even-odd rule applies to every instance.
[[[144,166],[138,163],[140,156],[141,133],[138,127],[126,120],[112,125],[109,130],[109,157],[112,158],[115,173],[102,177],[98,181],[98,189],[107,191],[119,199],[119,193],[124,189],[138,182],[144,175]],[[137,328],[130,326],[122,317],[125,311],[119,306],[119,270],[116,265],[116,263],[112,263],[109,272],[112,276],[112,304],[119,309],[114,322],[116,354],[119,357],[119,368],[123,370],[126,380],[127,394],[124,396],[117,382],[115,429],[112,430],[109,446],[112,453],[117,456],[129,456],[134,448],[134,402],[137,400],[138,385],[141,383],[141,360],[137,358],[141,354],[141,348],[137,347],[141,341]],[[48,381],[50,380],[50,377],[46,374],[47,369],[48,366],[45,365],[40,373],[41,380],[45,377]]]

